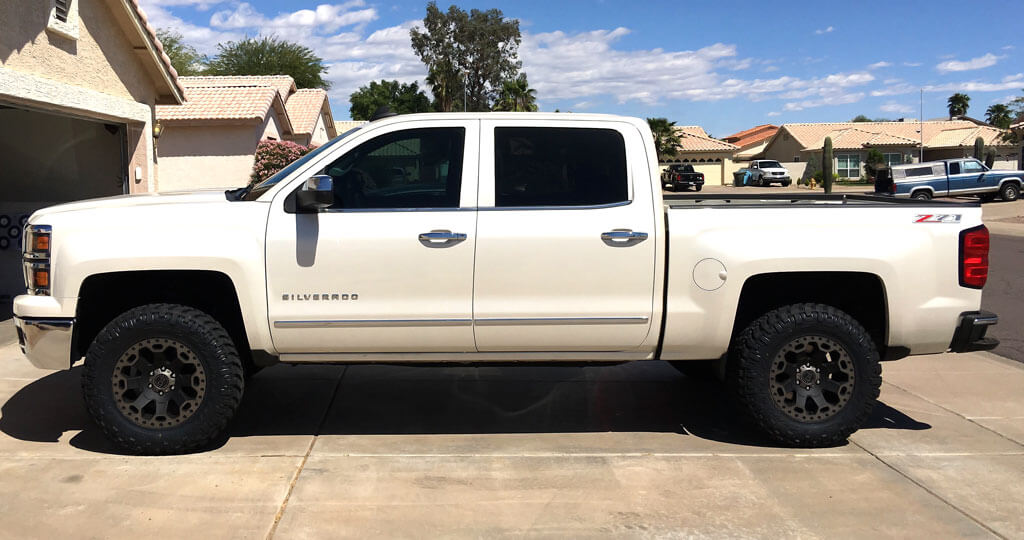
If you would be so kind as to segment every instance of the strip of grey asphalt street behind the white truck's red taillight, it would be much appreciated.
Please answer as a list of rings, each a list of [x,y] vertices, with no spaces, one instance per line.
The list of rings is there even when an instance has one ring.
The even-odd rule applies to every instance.
[[[996,355],[1024,362],[1024,237],[992,235],[988,283],[981,307],[999,316],[989,335],[999,340]]]

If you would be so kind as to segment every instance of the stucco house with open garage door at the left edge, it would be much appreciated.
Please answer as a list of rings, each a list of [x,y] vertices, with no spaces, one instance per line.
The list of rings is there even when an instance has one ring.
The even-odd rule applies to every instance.
[[[0,298],[27,214],[156,189],[154,107],[183,98],[135,0],[0,1]]]

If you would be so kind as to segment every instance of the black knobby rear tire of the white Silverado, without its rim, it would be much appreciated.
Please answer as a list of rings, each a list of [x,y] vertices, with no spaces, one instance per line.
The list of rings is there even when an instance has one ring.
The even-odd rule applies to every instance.
[[[798,419],[793,415],[800,413],[793,410],[787,413],[772,394],[772,386],[776,384],[771,375],[775,369],[773,365],[778,366],[780,361],[790,365],[788,352],[783,354],[783,347],[807,339],[830,340],[838,344],[846,357],[840,351],[837,356],[840,360],[836,362],[848,359],[850,366],[846,369],[852,372],[852,381],[847,380],[852,389],[843,394],[847,401],[823,419]],[[825,355],[824,358],[828,359],[828,367],[822,368],[823,372],[838,371],[839,364],[830,364],[833,357]],[[800,362],[804,360],[798,360]],[[807,362],[808,365],[813,363]],[[769,437],[792,447],[833,447],[845,442],[867,420],[882,386],[879,352],[867,331],[846,313],[815,303],[779,307],[751,323],[734,340],[727,370],[727,381],[734,388],[741,409]],[[824,377],[827,380],[834,376]],[[778,398],[782,396],[779,393]]]

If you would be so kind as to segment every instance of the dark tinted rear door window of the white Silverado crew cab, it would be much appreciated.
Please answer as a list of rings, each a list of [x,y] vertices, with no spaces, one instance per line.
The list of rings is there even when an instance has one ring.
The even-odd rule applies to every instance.
[[[495,206],[591,206],[629,200],[626,141],[613,129],[495,129]]]

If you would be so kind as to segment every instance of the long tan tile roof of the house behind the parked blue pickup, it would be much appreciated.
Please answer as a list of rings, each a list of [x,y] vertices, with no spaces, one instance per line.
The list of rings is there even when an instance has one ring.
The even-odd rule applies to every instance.
[[[833,137],[834,148],[863,148],[868,146],[918,146],[924,128],[925,148],[970,147],[981,136],[985,144],[1006,144],[998,140],[1004,131],[998,128],[979,126],[967,120],[940,120],[927,122],[834,122],[819,124],[784,124],[785,129],[797,139],[803,150],[817,150],[824,144],[826,136]],[[858,134],[860,133],[860,134]],[[871,133],[868,137],[862,133]],[[842,137],[845,147],[838,146]],[[859,141],[860,146],[854,146]]]

